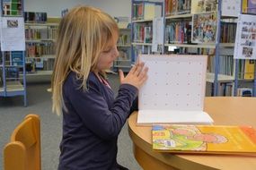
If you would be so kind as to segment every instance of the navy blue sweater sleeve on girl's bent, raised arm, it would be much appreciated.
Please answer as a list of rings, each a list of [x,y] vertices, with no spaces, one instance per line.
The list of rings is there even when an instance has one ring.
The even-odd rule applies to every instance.
[[[103,140],[117,137],[126,122],[130,106],[137,97],[137,88],[122,84],[119,94],[109,108],[100,84],[90,81],[89,89],[69,88],[68,98],[84,125]]]

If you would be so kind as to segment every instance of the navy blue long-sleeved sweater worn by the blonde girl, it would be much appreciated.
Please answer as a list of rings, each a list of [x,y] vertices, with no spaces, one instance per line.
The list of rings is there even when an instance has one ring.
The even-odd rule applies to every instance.
[[[60,143],[59,170],[115,169],[117,140],[137,97],[137,88],[119,87],[117,98],[93,72],[88,90],[71,72],[63,86],[67,111],[63,111],[63,137]]]

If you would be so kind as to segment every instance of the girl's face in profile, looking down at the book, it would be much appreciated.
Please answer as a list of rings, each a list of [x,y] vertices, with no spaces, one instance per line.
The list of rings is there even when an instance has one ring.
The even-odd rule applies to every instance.
[[[117,42],[118,42],[118,34],[116,33],[112,40],[110,40],[109,44],[105,49],[102,50],[98,64],[97,64],[97,71],[107,70],[113,64],[113,61],[119,56],[119,51],[117,49]]]

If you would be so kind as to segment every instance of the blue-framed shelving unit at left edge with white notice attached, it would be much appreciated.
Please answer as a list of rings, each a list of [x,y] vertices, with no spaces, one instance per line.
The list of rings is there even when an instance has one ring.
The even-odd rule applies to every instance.
[[[0,97],[23,96],[27,106],[22,12],[22,0],[1,0]]]

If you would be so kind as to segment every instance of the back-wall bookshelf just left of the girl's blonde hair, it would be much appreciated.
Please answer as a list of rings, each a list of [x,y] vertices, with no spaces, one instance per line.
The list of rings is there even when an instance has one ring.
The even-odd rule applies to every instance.
[[[51,75],[55,61],[58,22],[26,21],[27,75]]]

